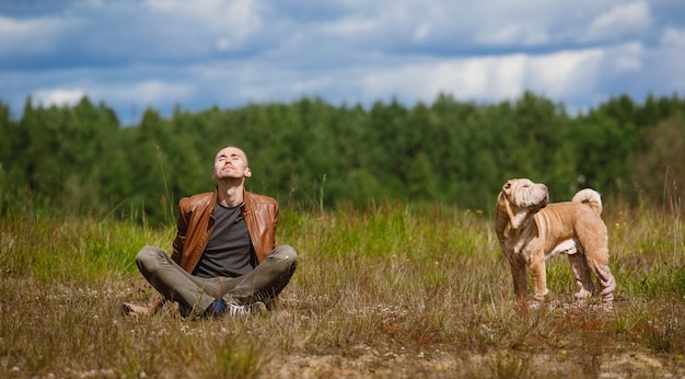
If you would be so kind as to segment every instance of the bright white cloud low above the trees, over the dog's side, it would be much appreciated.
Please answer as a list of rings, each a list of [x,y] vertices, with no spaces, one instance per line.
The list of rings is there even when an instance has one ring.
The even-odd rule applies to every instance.
[[[426,102],[439,93],[464,100],[501,100],[519,96],[525,90],[559,99],[591,88],[604,58],[602,50],[588,49],[431,60],[370,71],[361,85],[367,96],[410,94]]]

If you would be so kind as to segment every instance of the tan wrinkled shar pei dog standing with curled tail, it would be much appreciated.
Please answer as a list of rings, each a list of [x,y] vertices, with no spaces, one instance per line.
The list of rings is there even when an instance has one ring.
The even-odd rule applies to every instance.
[[[542,300],[549,292],[545,260],[565,254],[580,290],[579,299],[593,295],[594,273],[604,309],[613,309],[616,280],[608,267],[606,226],[600,217],[600,194],[587,188],[571,202],[549,203],[547,186],[527,179],[513,179],[497,197],[495,228],[500,248],[509,260],[514,294],[527,296],[526,266],[530,267],[533,296]]]

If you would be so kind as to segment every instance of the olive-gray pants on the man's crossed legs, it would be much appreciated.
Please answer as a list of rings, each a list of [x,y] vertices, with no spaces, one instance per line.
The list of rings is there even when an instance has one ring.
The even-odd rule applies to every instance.
[[[298,254],[289,245],[280,245],[252,272],[239,277],[202,278],[193,276],[156,246],[144,246],[136,256],[140,273],[167,300],[177,301],[183,317],[202,314],[216,300],[251,303],[263,301],[267,307],[290,282],[298,266]]]

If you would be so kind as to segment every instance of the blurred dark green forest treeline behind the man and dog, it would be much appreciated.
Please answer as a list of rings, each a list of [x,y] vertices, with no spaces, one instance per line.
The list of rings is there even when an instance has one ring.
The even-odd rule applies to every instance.
[[[685,99],[627,95],[582,114],[526,92],[496,104],[440,95],[333,106],[321,99],[249,104],[138,125],[88,97],[72,106],[26,100],[19,119],[0,102],[0,213],[160,222],[176,202],[211,191],[212,160],[225,145],[248,154],[247,188],[281,206],[367,207],[440,203],[489,213],[510,177],[530,177],[566,200],[593,187],[606,202],[664,206],[685,187]],[[678,203],[680,204],[680,203]]]

